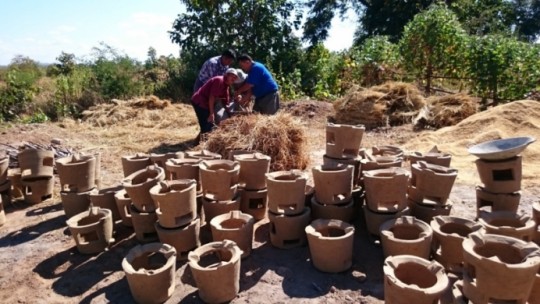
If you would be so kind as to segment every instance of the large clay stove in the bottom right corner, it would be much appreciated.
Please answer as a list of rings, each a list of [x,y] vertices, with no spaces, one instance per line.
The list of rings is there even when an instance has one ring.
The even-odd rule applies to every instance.
[[[540,266],[533,243],[495,234],[469,234],[463,241],[463,293],[474,303],[525,303]]]

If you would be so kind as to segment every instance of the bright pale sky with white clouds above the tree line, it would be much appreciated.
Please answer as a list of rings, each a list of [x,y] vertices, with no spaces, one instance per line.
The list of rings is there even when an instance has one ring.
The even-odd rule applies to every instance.
[[[177,56],[167,31],[185,11],[179,0],[4,0],[0,7],[0,65],[16,55],[53,63],[62,51],[84,59],[100,42],[139,61],[149,47]],[[350,47],[354,29],[354,17],[334,18],[325,46]]]

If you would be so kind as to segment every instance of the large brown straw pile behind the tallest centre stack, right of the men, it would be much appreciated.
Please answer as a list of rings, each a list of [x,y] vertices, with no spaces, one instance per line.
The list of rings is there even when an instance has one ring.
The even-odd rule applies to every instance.
[[[387,82],[380,86],[352,88],[334,103],[335,122],[363,124],[368,129],[410,123],[425,105],[424,97],[412,84]]]

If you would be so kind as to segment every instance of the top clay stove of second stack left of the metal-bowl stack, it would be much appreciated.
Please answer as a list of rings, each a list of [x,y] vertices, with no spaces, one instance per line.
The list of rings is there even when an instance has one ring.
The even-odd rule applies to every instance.
[[[364,171],[366,204],[376,212],[398,212],[407,207],[409,172],[403,168]]]

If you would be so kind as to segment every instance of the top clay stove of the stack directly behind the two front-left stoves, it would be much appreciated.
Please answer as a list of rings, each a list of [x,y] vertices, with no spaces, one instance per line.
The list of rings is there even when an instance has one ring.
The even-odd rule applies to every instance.
[[[194,179],[163,181],[150,189],[159,223],[164,228],[185,226],[197,218]]]

